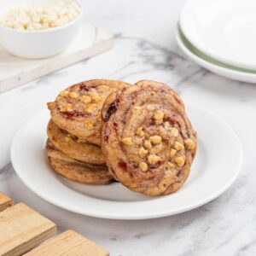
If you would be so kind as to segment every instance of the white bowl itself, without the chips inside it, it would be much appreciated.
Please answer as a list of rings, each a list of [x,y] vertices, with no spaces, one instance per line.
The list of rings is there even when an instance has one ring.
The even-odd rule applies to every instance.
[[[20,2],[20,0],[0,1],[0,15],[8,9],[21,6]],[[57,0],[23,0],[21,3],[24,7],[38,8],[57,2]],[[38,31],[21,31],[0,26],[0,46],[12,55],[29,59],[59,54],[67,48],[79,30],[79,21],[83,13],[81,4],[80,7],[81,13],[78,17],[64,26]]]

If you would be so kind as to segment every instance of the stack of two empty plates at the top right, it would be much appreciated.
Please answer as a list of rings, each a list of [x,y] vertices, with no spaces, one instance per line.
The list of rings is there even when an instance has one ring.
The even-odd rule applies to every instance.
[[[177,25],[177,44],[213,73],[256,83],[256,1],[189,0]]]

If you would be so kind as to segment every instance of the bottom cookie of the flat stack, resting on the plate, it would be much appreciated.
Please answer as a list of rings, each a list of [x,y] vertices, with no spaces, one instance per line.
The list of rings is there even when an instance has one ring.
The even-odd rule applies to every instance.
[[[49,166],[70,180],[95,185],[113,182],[113,176],[108,172],[107,166],[92,166],[73,160],[57,150],[49,140],[46,143],[46,154]]]

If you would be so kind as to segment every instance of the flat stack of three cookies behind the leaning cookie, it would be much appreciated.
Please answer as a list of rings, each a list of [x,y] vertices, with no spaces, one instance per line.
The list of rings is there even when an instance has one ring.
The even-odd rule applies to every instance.
[[[101,110],[106,97],[130,84],[90,80],[62,90],[49,102],[47,155],[52,169],[80,183],[106,184],[108,172],[101,149]]]

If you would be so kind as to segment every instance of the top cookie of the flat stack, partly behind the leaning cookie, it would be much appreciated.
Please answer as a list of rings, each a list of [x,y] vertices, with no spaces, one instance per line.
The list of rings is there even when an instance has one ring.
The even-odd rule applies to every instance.
[[[101,111],[106,97],[130,86],[122,81],[90,80],[62,90],[48,108],[56,125],[76,137],[101,145]]]

